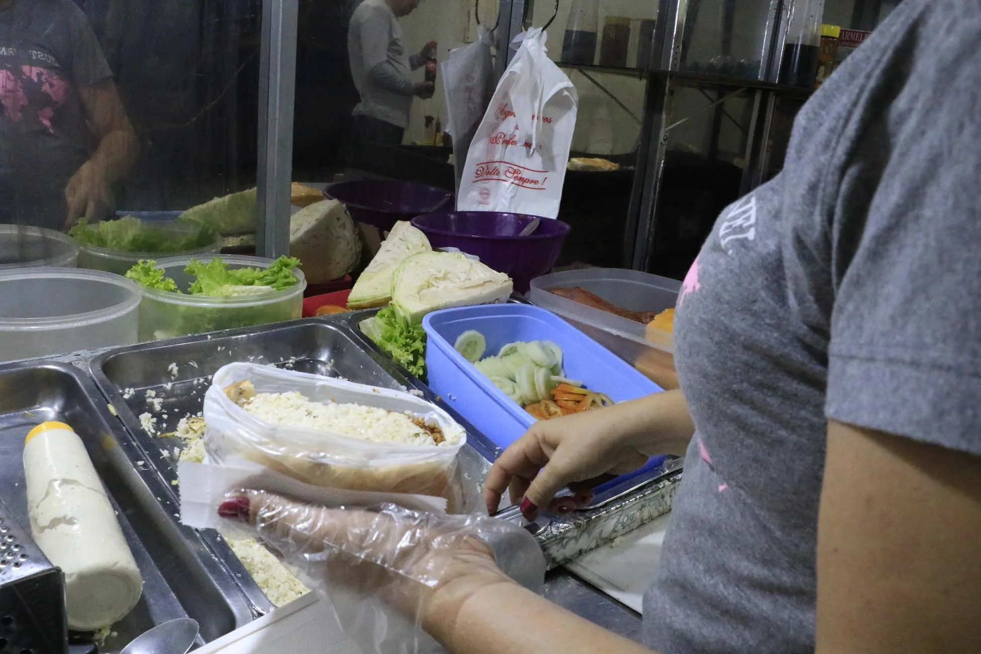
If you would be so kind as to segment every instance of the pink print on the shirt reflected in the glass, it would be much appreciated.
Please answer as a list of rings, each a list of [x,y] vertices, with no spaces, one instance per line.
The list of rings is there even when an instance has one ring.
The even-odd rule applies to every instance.
[[[68,101],[70,88],[69,80],[51,69],[22,66],[21,75],[0,70],[0,104],[7,118],[21,123],[25,110],[31,111],[52,134],[55,112]]]

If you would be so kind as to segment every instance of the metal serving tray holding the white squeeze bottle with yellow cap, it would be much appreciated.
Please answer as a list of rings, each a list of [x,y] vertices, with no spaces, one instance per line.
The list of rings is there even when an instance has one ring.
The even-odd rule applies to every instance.
[[[0,499],[22,525],[28,524],[24,439],[44,421],[67,423],[84,441],[143,577],[139,604],[113,625],[115,634],[99,651],[119,652],[146,629],[175,618],[200,624],[198,644],[252,620],[244,597],[204,542],[175,522],[169,512],[176,509],[156,500],[167,491],[163,481],[149,470],[91,379],[74,366],[0,366]]]

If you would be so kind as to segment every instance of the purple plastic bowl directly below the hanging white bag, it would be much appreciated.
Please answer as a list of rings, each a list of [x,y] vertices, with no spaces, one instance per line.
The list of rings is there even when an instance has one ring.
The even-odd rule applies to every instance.
[[[535,216],[496,211],[442,211],[413,219],[434,249],[455,247],[481,258],[481,262],[514,279],[514,289],[525,293],[532,279],[552,269],[572,227],[550,218],[531,236],[517,234]]]

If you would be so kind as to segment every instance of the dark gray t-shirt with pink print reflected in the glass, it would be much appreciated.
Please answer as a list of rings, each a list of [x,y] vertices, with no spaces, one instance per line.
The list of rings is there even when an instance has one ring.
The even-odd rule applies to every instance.
[[[72,0],[0,11],[0,223],[65,225],[65,186],[96,146],[78,88],[111,76]]]

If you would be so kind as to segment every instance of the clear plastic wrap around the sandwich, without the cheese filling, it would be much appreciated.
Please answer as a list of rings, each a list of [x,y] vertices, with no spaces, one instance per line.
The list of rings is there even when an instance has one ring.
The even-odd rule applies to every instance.
[[[258,393],[298,391],[314,402],[359,404],[408,413],[439,427],[439,445],[376,442],[325,430],[272,425],[250,415],[228,395],[248,381]],[[315,486],[382,493],[434,495],[450,512],[476,505],[477,488],[465,483],[457,455],[466,431],[448,414],[408,393],[330,377],[235,363],[220,369],[204,399],[205,448],[210,460],[241,457]]]

